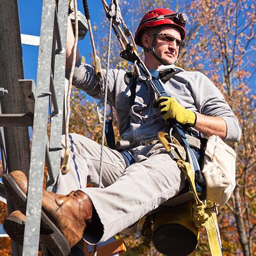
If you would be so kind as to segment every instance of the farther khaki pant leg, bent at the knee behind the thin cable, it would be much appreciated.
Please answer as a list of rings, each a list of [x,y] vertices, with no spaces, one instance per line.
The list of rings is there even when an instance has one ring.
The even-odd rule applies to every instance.
[[[99,184],[101,145],[75,133],[70,133],[69,138],[70,171],[64,175],[59,173],[53,188],[53,191],[58,194],[83,189],[87,186],[87,182],[95,186]],[[65,148],[65,136],[62,137],[62,145]],[[64,151],[62,151],[62,157]],[[102,184],[103,187],[107,187],[123,174],[126,164],[118,151],[104,147],[102,167]]]

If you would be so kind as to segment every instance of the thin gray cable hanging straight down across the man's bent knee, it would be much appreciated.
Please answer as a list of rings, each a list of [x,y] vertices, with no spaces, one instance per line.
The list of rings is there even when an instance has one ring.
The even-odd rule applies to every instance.
[[[113,3],[113,0],[111,1]],[[103,111],[103,124],[102,124],[102,136],[101,136],[101,152],[100,152],[100,178],[99,178],[99,187],[102,187],[102,163],[103,163],[103,148],[105,141],[105,127],[106,127],[106,112],[107,112],[107,89],[108,89],[108,70],[109,70],[109,60],[110,60],[110,50],[111,50],[111,28],[112,28],[113,17],[109,19],[109,28],[108,28],[108,49],[107,49],[107,69],[106,69],[106,80],[105,80],[105,94],[102,95],[104,99],[104,111]]]

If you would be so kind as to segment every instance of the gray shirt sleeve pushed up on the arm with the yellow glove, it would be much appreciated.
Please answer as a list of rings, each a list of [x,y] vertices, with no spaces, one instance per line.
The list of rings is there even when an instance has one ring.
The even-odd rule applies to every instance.
[[[241,138],[241,125],[215,84],[201,72],[193,72],[188,83],[199,113],[221,117],[227,124],[225,141],[238,142]]]

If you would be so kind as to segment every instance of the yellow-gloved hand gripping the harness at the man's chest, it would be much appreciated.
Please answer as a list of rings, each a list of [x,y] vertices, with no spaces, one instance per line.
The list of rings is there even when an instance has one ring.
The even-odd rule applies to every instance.
[[[155,101],[154,107],[159,107],[160,113],[166,121],[175,119],[183,125],[193,126],[196,124],[196,113],[181,106],[174,97],[161,96]]]

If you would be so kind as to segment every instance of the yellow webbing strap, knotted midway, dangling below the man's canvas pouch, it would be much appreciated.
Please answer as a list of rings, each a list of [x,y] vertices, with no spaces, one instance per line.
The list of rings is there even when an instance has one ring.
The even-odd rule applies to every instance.
[[[208,235],[211,255],[221,256],[221,239],[220,231],[218,229],[216,212],[211,212],[206,203],[199,199],[196,185],[194,182],[194,172],[190,168],[190,163],[183,160],[178,160],[177,164],[182,172],[185,173],[186,178],[190,182],[191,190],[194,194],[195,202],[193,204],[193,221],[196,227],[205,227]]]

